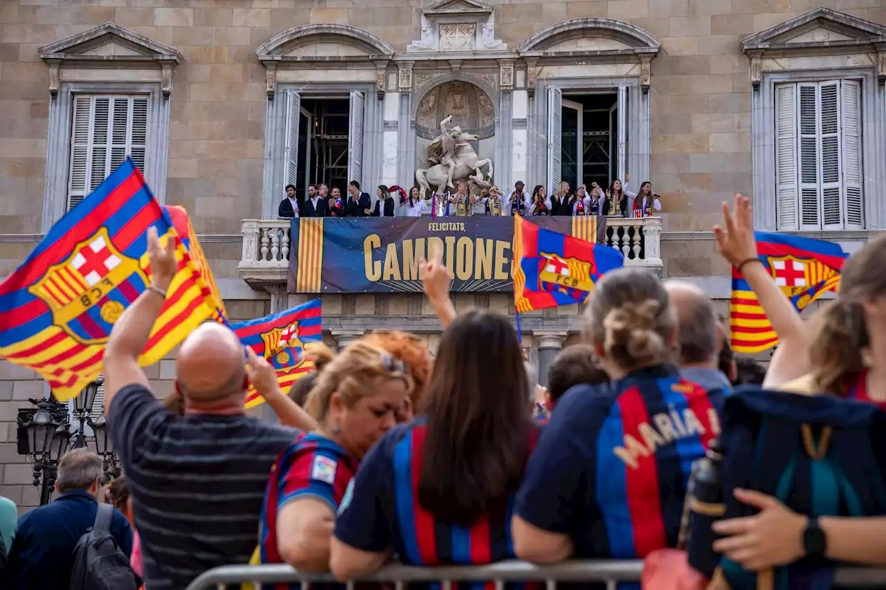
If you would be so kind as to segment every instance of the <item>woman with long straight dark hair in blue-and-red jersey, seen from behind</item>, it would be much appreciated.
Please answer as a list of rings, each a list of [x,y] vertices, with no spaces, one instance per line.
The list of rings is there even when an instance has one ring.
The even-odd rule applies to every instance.
[[[536,433],[529,404],[507,318],[457,317],[440,340],[424,415],[390,431],[361,464],[331,544],[336,578],[375,571],[393,553],[429,566],[512,558],[510,506]]]

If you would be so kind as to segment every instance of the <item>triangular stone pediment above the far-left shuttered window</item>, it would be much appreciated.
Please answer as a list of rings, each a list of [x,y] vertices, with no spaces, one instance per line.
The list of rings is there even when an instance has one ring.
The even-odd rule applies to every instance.
[[[38,51],[50,66],[50,93],[53,98],[58,96],[62,68],[157,68],[161,71],[163,95],[168,97],[172,91],[173,70],[183,60],[178,50],[113,22],[43,45]]]

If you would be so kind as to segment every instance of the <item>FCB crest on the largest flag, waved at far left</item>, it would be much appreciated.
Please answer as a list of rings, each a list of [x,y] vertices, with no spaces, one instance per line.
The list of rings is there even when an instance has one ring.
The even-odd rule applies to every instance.
[[[148,284],[139,260],[114,247],[105,227],[74,245],[27,291],[50,308],[52,322],[82,345],[105,344],[113,323]]]

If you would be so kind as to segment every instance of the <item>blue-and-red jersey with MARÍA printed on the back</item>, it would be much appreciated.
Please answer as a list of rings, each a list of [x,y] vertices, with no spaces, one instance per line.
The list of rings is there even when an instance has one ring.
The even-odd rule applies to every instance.
[[[579,558],[675,547],[692,463],[719,434],[722,395],[670,366],[573,387],[541,431],[517,516],[570,535]]]

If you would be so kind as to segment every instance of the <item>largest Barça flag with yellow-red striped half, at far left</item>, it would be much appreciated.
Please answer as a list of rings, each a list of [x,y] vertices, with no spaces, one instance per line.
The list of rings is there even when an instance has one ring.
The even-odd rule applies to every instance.
[[[179,270],[139,363],[163,358],[215,306],[169,215],[131,159],[62,217],[0,284],[0,357],[35,370],[59,401],[94,381],[114,322],[151,283],[152,226],[164,244],[176,240]]]

